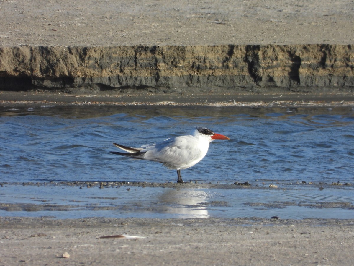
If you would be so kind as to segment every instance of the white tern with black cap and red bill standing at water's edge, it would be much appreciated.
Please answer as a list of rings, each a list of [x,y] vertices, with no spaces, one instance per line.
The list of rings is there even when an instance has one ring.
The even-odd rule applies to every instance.
[[[160,162],[169,169],[177,170],[178,183],[183,183],[181,169],[187,169],[206,155],[209,143],[214,139],[229,139],[228,137],[216,134],[204,127],[196,128],[190,135],[165,139],[161,143],[144,145],[141,148],[130,148],[113,143],[118,148],[128,153],[110,153],[126,157]]]

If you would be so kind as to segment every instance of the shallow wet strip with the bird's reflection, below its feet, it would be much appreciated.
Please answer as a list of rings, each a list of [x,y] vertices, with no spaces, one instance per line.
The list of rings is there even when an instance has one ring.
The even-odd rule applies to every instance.
[[[161,219],[178,216],[227,218],[230,215],[257,216],[257,213],[264,218],[297,217],[298,220],[302,220],[317,216],[348,219],[352,216],[351,210],[354,209],[354,202],[350,201],[349,196],[353,185],[337,182],[306,183],[303,181],[286,184],[276,180],[264,180],[234,184],[219,182],[207,184],[197,181],[180,184],[56,181],[1,182],[0,186],[3,197],[3,202],[0,204],[2,215],[51,216],[55,220],[87,215]],[[43,187],[45,190],[42,189]],[[10,196],[12,193],[16,194],[16,198]],[[233,199],[235,193],[240,199]],[[303,193],[308,195],[304,196]],[[315,196],[316,194],[318,196]],[[272,198],[265,200],[266,195]],[[136,198],[137,196],[141,199]],[[254,200],[253,197],[259,197],[259,200]],[[234,202],[238,200],[241,202]],[[312,210],[312,214],[309,210]],[[290,215],[291,212],[294,214]]]

